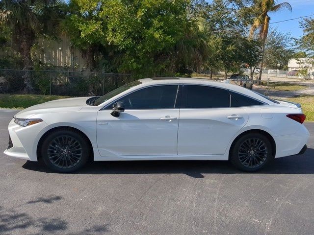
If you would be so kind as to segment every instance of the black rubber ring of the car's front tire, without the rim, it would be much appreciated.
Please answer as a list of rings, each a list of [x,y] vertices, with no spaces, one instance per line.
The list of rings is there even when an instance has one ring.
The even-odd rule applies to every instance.
[[[80,145],[82,147],[82,158],[81,158],[81,160],[78,162],[78,164],[76,164],[75,166],[73,166],[71,168],[57,167],[54,164],[52,164],[52,162],[48,158],[47,149],[48,149],[49,143],[53,139],[55,139],[56,137],[61,136],[61,135],[67,135],[67,136],[71,136],[71,137],[75,138],[80,143]],[[89,154],[90,154],[90,148],[89,148],[89,145],[88,145],[86,138],[84,138],[79,132],[72,131],[72,130],[66,130],[65,129],[65,130],[53,131],[52,133],[50,133],[45,138],[45,140],[43,141],[42,146],[41,146],[41,157],[42,157],[43,162],[53,171],[58,171],[58,172],[62,172],[62,173],[76,171],[79,168],[81,168],[84,164],[86,164],[86,162],[89,158]]]

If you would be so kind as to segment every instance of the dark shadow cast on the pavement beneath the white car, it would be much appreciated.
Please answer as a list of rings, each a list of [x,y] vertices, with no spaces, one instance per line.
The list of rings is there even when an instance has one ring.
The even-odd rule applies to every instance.
[[[303,155],[274,159],[258,174],[313,174],[314,149],[308,148]],[[27,161],[27,170],[55,173],[45,165]],[[203,174],[246,174],[227,161],[117,161],[90,162],[73,174],[186,174],[204,178]]]

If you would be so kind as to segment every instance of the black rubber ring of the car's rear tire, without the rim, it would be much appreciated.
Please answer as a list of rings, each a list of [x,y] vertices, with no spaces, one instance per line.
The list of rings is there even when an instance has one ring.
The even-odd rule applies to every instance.
[[[243,141],[250,139],[250,138],[259,138],[261,139],[267,146],[267,157],[265,162],[257,167],[250,168],[247,166],[244,166],[241,164],[239,158],[238,158],[238,149],[240,145],[243,143]],[[230,161],[232,164],[234,164],[238,169],[243,170],[243,171],[248,171],[248,172],[253,172],[262,169],[265,165],[267,165],[273,158],[274,156],[272,155],[272,145],[271,142],[268,140],[268,138],[260,133],[248,133],[244,136],[241,136],[239,139],[235,141],[235,143],[232,146],[231,152],[230,152]]]

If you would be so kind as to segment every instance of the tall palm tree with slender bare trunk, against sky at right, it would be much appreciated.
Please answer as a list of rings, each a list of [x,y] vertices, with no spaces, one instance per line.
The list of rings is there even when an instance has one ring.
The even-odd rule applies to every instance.
[[[261,80],[263,62],[264,62],[263,54],[264,54],[264,49],[265,49],[265,41],[268,35],[269,21],[270,21],[270,17],[268,16],[268,13],[280,11],[282,9],[288,9],[289,11],[292,11],[292,7],[288,2],[282,2],[282,3],[276,4],[275,0],[256,0],[256,7],[258,8],[258,11],[260,12],[260,14],[255,19],[254,23],[251,26],[249,37],[252,39],[255,31],[257,29],[260,29],[259,37],[262,43],[262,61],[261,61],[259,80]]]

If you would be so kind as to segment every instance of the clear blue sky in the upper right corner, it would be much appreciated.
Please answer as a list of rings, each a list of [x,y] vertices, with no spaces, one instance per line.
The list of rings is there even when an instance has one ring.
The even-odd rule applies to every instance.
[[[270,13],[270,23],[314,14],[314,0],[277,0],[277,3],[283,1],[290,3],[292,11],[290,12],[284,9],[279,12]],[[314,18],[314,16],[312,16],[312,18]],[[271,27],[277,27],[278,31],[291,33],[292,37],[298,38],[303,35],[302,28],[300,28],[299,25],[301,20],[302,19],[271,24]]]

